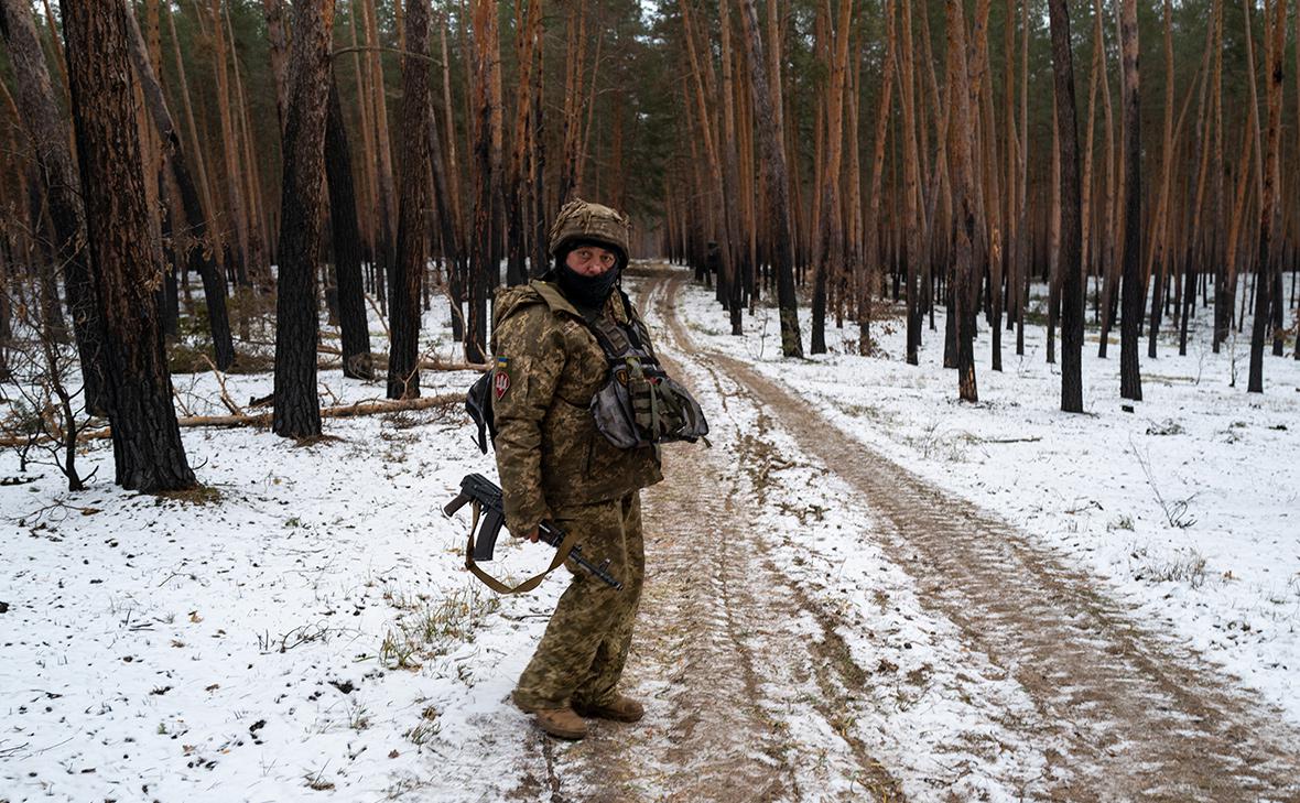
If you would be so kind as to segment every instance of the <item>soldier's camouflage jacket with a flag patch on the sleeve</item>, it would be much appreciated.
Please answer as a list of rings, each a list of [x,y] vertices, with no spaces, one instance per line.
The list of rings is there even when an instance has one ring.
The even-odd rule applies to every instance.
[[[615,292],[604,314],[634,317]],[[595,337],[559,288],[533,281],[497,295],[493,417],[506,526],[528,534],[554,508],[615,499],[663,479],[654,447],[620,450],[597,430],[592,396],[610,378]]]

